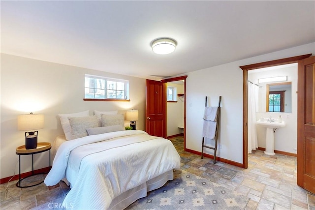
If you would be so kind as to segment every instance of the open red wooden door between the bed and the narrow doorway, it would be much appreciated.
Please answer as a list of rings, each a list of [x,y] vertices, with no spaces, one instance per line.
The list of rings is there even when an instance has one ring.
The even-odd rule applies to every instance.
[[[146,132],[166,138],[166,84],[147,80]]]

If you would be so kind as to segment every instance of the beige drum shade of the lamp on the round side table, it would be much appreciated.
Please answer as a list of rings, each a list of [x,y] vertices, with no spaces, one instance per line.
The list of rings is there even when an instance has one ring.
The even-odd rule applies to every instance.
[[[18,130],[37,130],[44,128],[43,114],[18,115]]]

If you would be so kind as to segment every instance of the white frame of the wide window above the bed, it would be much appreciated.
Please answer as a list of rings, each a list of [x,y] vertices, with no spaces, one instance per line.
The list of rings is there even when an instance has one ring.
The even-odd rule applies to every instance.
[[[104,88],[100,88],[97,89],[97,87],[90,87],[88,84],[86,84],[86,78],[92,78],[92,79],[99,79],[99,80],[104,80]],[[120,83],[124,83],[124,98],[117,98],[116,97],[108,97],[108,89],[107,89],[107,82],[111,81],[111,82],[120,82]],[[104,97],[99,98],[99,97],[95,97],[95,92],[94,91],[94,96],[93,97],[86,97],[86,89],[95,89],[95,90],[103,90],[104,91]],[[117,87],[113,90],[116,91],[120,91],[117,90]],[[128,80],[123,80],[123,79],[116,79],[116,78],[109,78],[109,77],[102,77],[102,76],[96,76],[96,75],[90,75],[90,74],[85,74],[84,77],[84,99],[92,99],[92,100],[129,100],[129,81]]]

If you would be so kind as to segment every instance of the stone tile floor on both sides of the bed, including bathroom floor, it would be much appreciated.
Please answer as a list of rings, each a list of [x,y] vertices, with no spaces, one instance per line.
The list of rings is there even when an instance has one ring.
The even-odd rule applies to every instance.
[[[315,210],[315,195],[296,185],[296,157],[265,155],[256,150],[249,154],[249,168],[243,169],[223,162],[213,164],[209,158],[184,152],[183,137],[170,139],[181,155],[181,169],[209,179],[228,189],[247,195],[246,210]],[[22,181],[43,180],[36,175]],[[16,187],[15,181],[0,185],[1,210],[62,209],[69,187],[61,181],[47,187],[44,183],[29,188]]]

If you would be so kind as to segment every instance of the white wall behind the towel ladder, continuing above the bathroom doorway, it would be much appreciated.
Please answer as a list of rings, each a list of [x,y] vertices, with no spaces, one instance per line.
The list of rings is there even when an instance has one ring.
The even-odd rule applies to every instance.
[[[218,142],[222,149],[217,155],[243,163],[243,71],[239,66],[310,53],[315,54],[315,43],[190,72],[186,80],[187,149],[201,151],[205,96],[210,97],[210,106],[217,106],[221,95]],[[278,147],[276,145],[276,150]],[[206,153],[213,154],[213,150],[206,150]]]

